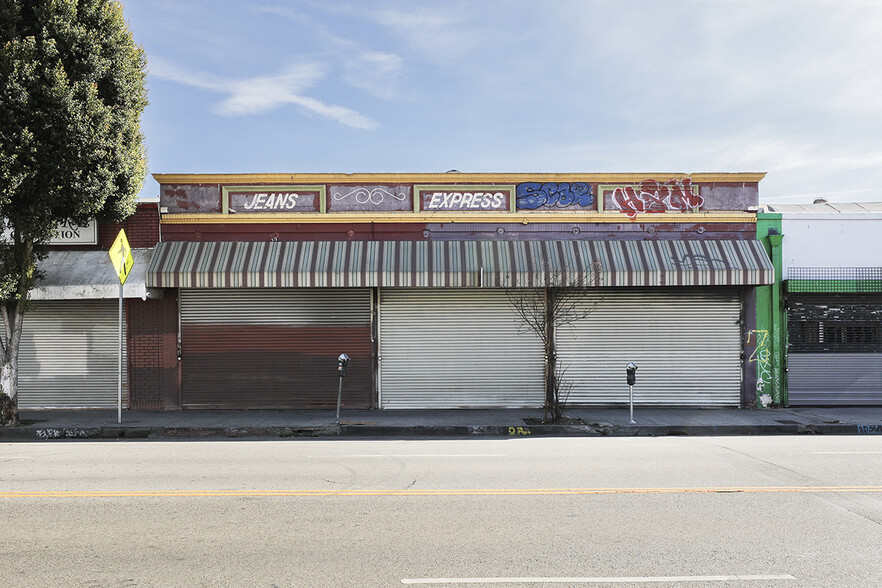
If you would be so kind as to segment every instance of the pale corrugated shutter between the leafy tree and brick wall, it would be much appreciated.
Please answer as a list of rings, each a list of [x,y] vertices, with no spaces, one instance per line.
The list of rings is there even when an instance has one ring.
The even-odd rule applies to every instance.
[[[125,347],[123,405],[128,404]],[[118,390],[119,302],[35,302],[22,330],[19,408],[116,408]]]

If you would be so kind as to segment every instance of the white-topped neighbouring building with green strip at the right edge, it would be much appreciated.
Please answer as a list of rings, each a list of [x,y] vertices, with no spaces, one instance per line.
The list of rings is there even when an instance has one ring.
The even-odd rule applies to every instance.
[[[784,235],[786,403],[882,404],[882,203],[764,209]]]

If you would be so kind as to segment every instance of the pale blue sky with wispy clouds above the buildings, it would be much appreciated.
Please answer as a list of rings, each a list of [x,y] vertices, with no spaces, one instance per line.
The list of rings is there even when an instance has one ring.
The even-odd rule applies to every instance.
[[[123,5],[151,173],[764,171],[762,202],[882,201],[882,0]]]

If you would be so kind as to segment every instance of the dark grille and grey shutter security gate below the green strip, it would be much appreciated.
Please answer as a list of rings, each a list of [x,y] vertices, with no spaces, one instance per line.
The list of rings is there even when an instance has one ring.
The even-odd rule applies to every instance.
[[[791,295],[790,406],[882,405],[882,296]]]

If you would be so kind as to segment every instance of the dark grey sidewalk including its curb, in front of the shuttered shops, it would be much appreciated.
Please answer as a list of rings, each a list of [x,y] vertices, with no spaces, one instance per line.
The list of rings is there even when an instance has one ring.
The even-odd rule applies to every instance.
[[[48,439],[432,438],[664,435],[880,435],[882,406],[828,408],[574,408],[542,410],[22,410],[0,442]]]

